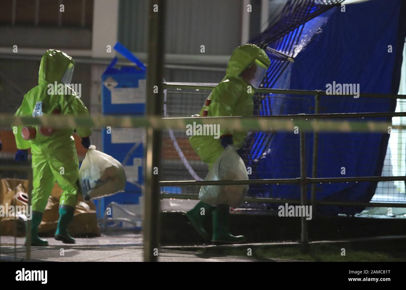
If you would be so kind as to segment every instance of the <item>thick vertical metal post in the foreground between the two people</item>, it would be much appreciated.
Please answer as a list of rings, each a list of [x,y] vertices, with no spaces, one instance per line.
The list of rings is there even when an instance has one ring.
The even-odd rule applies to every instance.
[[[163,64],[164,64],[164,0],[149,1],[149,39],[147,71],[147,114],[162,116],[163,110]],[[159,174],[153,174],[154,167],[160,168],[161,130],[147,128],[147,145],[145,152],[145,192],[144,192],[144,261],[158,260],[160,186]]]

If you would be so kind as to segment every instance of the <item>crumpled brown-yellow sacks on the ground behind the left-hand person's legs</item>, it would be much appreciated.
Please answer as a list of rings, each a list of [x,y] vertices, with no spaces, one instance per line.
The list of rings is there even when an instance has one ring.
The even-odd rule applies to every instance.
[[[0,179],[0,206],[16,208],[17,213],[8,212],[8,216],[2,216],[0,231],[2,236],[25,235],[25,206],[28,205],[28,180],[23,179]],[[54,184],[48,203],[45,208],[43,219],[39,225],[39,233],[45,236],[54,236],[59,219],[59,199],[62,189],[57,183]],[[96,206],[93,201],[84,201],[79,195],[76,204],[73,221],[69,225],[71,236],[100,236],[100,228],[97,225]]]

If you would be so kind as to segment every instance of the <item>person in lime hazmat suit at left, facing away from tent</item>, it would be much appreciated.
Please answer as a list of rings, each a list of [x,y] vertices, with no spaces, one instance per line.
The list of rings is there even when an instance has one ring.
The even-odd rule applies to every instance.
[[[66,84],[71,83],[73,59],[58,50],[47,50],[41,58],[38,85],[32,88],[22,101],[15,116],[40,117],[42,115],[89,115],[78,95]],[[55,88],[61,88],[57,89]],[[13,126],[14,127],[14,126]],[[55,181],[63,193],[59,202],[59,220],[54,238],[74,244],[68,225],[73,219],[79,190],[79,161],[76,153],[73,131],[82,138],[82,145],[89,148],[92,134],[90,128],[53,129],[44,126],[15,126],[17,144],[16,161],[27,160],[28,149],[32,153],[32,245],[47,246],[48,241],[38,237],[48,197]]]

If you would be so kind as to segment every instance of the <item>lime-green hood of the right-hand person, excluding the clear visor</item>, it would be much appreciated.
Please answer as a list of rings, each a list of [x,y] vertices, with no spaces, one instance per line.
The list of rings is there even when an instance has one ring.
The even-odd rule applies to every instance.
[[[257,59],[266,67],[270,66],[269,57],[255,44],[244,44],[233,51],[227,64],[226,78],[238,78],[242,71]]]

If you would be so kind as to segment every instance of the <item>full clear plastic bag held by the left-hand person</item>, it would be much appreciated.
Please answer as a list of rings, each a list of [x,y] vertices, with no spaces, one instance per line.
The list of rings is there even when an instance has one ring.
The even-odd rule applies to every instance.
[[[80,190],[85,200],[124,191],[127,177],[123,165],[91,145],[79,170]]]

